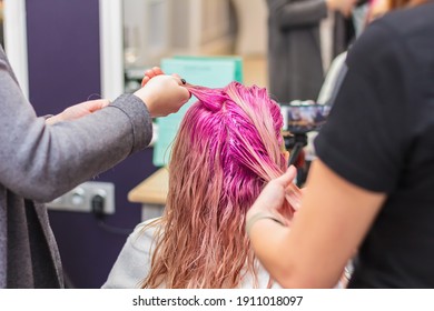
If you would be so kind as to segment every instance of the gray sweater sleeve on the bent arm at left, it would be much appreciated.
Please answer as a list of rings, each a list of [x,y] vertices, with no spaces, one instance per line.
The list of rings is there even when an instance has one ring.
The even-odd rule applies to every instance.
[[[23,97],[2,49],[0,86],[0,183],[27,199],[51,201],[150,142],[151,118],[134,94],[47,126]]]

